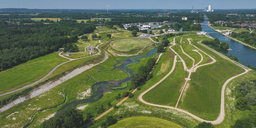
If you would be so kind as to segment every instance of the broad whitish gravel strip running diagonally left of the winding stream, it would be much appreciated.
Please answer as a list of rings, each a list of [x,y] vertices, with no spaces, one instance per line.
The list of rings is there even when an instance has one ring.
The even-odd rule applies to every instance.
[[[99,45],[98,45],[99,46]],[[97,46],[97,48],[98,48]],[[100,50],[99,50],[100,52]],[[31,98],[34,98],[35,96],[38,96],[56,86],[58,86],[59,84],[62,84],[63,82],[73,78],[74,76],[77,76],[78,74],[102,63],[102,62],[105,62],[106,60],[108,59],[108,54],[107,52],[105,52],[105,56],[103,58],[103,60],[101,62],[98,62],[96,64],[88,64],[86,66],[82,66],[80,68],[77,68],[75,70],[73,70],[72,72],[70,72],[69,74],[66,74],[65,76],[62,76],[60,79],[52,82],[47,82],[46,84],[42,85],[42,86],[39,86],[38,88],[34,89],[32,92],[30,92],[30,94],[26,95],[26,96],[23,96],[23,97],[20,97],[16,100],[14,100],[13,102],[3,106],[2,108],[0,108],[0,112],[4,112],[5,110],[8,110],[9,108],[12,108],[13,106],[17,105],[17,104],[20,104],[26,100],[29,100]],[[69,62],[69,61],[68,61]]]

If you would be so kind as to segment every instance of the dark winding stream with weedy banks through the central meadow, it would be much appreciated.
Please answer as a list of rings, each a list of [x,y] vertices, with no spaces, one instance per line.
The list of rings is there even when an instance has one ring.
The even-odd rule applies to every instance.
[[[31,120],[28,124],[26,124],[26,126],[24,126],[23,128],[27,128],[28,126],[30,126],[30,124],[32,124],[32,122],[34,122],[34,119],[36,117],[36,115],[42,111],[45,110],[49,110],[52,108],[57,108],[59,106],[62,106],[62,108],[60,108],[60,110],[64,110],[65,108],[69,107],[69,106],[77,106],[78,104],[87,104],[87,103],[92,103],[92,102],[96,102],[98,100],[100,100],[103,97],[103,94],[105,92],[111,92],[113,90],[122,90],[127,88],[128,83],[130,82],[131,76],[134,73],[132,70],[130,70],[129,68],[127,68],[129,65],[132,64],[136,64],[139,63],[140,60],[138,60],[138,58],[144,58],[147,56],[152,56],[155,52],[156,52],[157,48],[155,48],[154,50],[151,50],[150,52],[148,52],[145,55],[139,55],[139,56],[133,56],[131,58],[127,58],[125,60],[122,60],[121,62],[118,62],[114,65],[114,68],[112,70],[115,70],[116,68],[120,68],[121,70],[123,70],[124,72],[126,72],[126,74],[128,74],[128,77],[125,78],[124,80],[116,80],[116,81],[101,81],[101,82],[97,82],[95,84],[92,85],[92,96],[90,96],[90,98],[87,99],[82,99],[82,100],[77,100],[71,103],[68,103],[64,106],[62,106],[63,104],[65,104],[66,102],[66,93],[64,92],[65,88],[67,88],[68,86],[64,87],[62,89],[62,94],[64,94],[65,99],[61,104],[58,104],[54,107],[51,108],[44,108],[42,110],[39,110],[37,112],[35,112],[32,116],[31,116]],[[122,64],[120,65],[120,67],[116,67],[116,65],[118,64]],[[110,70],[110,71],[112,71]],[[99,71],[99,72],[108,72],[108,71]],[[91,74],[90,74],[91,75]],[[90,75],[88,80],[90,80]],[[84,80],[83,80],[84,81]],[[70,86],[70,85],[69,85]]]

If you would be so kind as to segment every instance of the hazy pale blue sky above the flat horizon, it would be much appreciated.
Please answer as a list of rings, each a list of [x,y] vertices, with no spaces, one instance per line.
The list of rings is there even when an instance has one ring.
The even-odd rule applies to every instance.
[[[0,8],[30,9],[255,9],[256,0],[0,0]]]

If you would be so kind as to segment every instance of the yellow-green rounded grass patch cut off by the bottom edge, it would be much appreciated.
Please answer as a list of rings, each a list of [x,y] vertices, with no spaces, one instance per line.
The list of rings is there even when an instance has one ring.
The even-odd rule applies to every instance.
[[[178,124],[160,118],[138,116],[125,118],[109,128],[182,128]]]

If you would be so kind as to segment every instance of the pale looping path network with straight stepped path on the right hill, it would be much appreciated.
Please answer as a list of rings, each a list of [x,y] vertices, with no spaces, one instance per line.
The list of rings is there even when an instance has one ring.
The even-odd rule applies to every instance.
[[[190,40],[191,40],[191,39],[188,39],[189,44],[192,45],[191,42],[190,42]],[[175,38],[174,38],[174,42],[175,42]],[[174,43],[174,45],[175,45],[175,43]],[[174,45],[172,45],[172,46],[174,46]],[[170,46],[170,49],[171,49],[172,51],[174,51],[174,50],[171,48],[172,46]],[[192,45],[192,46],[194,46],[194,45]],[[204,46],[204,45],[203,45],[203,46]],[[194,46],[194,47],[195,47],[195,46]],[[207,46],[204,46],[204,47],[208,48]],[[196,47],[195,47],[195,48],[196,48]],[[236,76],[233,76],[232,78],[229,78],[229,79],[224,83],[224,85],[222,86],[220,114],[219,114],[219,116],[218,116],[218,118],[217,118],[216,120],[214,120],[214,121],[204,120],[204,119],[199,118],[198,116],[196,116],[196,115],[194,115],[194,114],[192,114],[192,113],[190,113],[190,112],[187,112],[187,111],[185,111],[185,110],[182,110],[182,109],[180,109],[180,108],[177,108],[179,100],[177,101],[177,104],[176,104],[175,108],[174,108],[174,107],[171,107],[171,106],[164,106],[164,105],[159,105],[159,104],[152,104],[152,103],[149,103],[149,102],[146,102],[145,100],[143,100],[142,97],[143,97],[144,94],[146,94],[148,91],[152,90],[154,87],[156,87],[158,84],[160,84],[163,80],[165,80],[165,79],[174,71],[174,68],[175,68],[175,65],[176,65],[176,62],[177,62],[177,56],[175,56],[175,58],[174,58],[174,64],[173,64],[173,66],[172,66],[172,70],[171,70],[164,78],[162,78],[159,82],[157,82],[156,84],[154,84],[153,86],[151,86],[150,88],[148,88],[148,90],[142,92],[142,93],[139,95],[138,100],[140,100],[140,101],[143,102],[144,104],[148,104],[148,105],[151,105],[151,106],[157,106],[157,107],[162,107],[162,108],[170,108],[170,109],[178,110],[178,111],[180,111],[180,112],[183,112],[183,113],[185,113],[185,114],[188,114],[189,116],[193,117],[194,119],[196,119],[196,120],[198,120],[198,121],[200,121],[200,122],[210,122],[210,123],[212,123],[212,124],[220,124],[220,123],[224,120],[224,116],[225,116],[225,108],[224,108],[224,103],[225,103],[225,102],[224,102],[224,99],[225,99],[225,97],[224,97],[224,96],[225,96],[225,88],[226,88],[226,85],[227,85],[231,80],[233,80],[234,78],[237,78],[238,76],[241,76],[241,75],[243,75],[243,74],[246,74],[247,72],[250,71],[250,69],[245,68],[245,67],[242,66],[241,64],[236,63],[236,62],[234,62],[234,61],[232,61],[232,60],[226,58],[226,56],[224,56],[224,55],[222,55],[222,54],[219,54],[218,52],[212,50],[211,48],[208,48],[208,49],[211,50],[212,52],[214,52],[214,53],[216,53],[216,54],[222,56],[223,58],[229,60],[230,62],[233,62],[233,63],[237,64],[238,66],[244,68],[244,70],[245,70],[245,72],[243,72],[243,73],[241,73],[241,74],[238,74],[238,75],[236,75]],[[198,50],[200,50],[200,49],[198,49]],[[204,51],[202,51],[202,50],[201,50],[201,52],[203,52],[204,54],[206,54],[206,53],[205,53]],[[174,51],[174,53],[177,54],[175,51]],[[198,53],[199,53],[199,52],[198,52]],[[200,53],[199,53],[199,54],[200,54]],[[177,54],[177,55],[178,55],[178,54]],[[206,55],[208,55],[208,54],[206,54]],[[200,54],[200,56],[203,57],[202,54]],[[208,56],[209,56],[209,55],[208,55]],[[212,63],[216,62],[216,60],[215,60],[214,58],[212,58],[212,56],[209,56],[209,57],[210,57],[213,61],[210,62],[210,63],[207,63],[207,64],[202,64],[203,66],[204,66],[204,65],[208,65],[208,64],[212,64]],[[181,58],[181,61],[184,62],[184,60],[182,60],[182,58]],[[201,59],[200,62],[202,62],[202,59]],[[199,63],[200,63],[200,62],[199,62]],[[198,64],[199,64],[199,63],[198,63]],[[193,66],[190,70],[188,70],[189,74],[191,74],[191,72],[195,72],[196,69],[200,67],[200,66],[198,66],[198,64],[196,64],[196,65]],[[202,65],[201,65],[201,66],[202,66]],[[193,69],[194,69],[194,70],[193,70]],[[188,78],[186,78],[186,81],[189,80],[189,78],[190,78],[190,75],[188,76]],[[184,86],[186,86],[186,83],[184,84]],[[183,86],[183,89],[182,89],[182,90],[184,90],[184,86]],[[183,92],[181,92],[181,95],[182,95],[182,93],[183,93]],[[181,97],[181,96],[180,96],[180,97]],[[179,99],[180,99],[180,97],[179,97]]]

